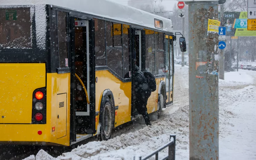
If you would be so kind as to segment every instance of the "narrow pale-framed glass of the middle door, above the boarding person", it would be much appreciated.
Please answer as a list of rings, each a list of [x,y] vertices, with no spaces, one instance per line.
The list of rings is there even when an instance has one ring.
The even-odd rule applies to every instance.
[[[135,30],[135,65],[141,70],[141,30]]]

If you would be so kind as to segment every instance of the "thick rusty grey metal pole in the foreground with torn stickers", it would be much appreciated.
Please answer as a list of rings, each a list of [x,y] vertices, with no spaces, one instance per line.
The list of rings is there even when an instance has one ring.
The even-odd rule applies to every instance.
[[[218,33],[207,33],[218,1],[189,5],[189,160],[219,159]],[[207,72],[209,71],[209,72]]]

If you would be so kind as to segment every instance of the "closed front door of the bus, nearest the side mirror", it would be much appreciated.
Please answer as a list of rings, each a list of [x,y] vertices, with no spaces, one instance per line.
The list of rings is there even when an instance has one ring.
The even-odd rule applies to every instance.
[[[173,101],[173,37],[165,36],[166,105]]]

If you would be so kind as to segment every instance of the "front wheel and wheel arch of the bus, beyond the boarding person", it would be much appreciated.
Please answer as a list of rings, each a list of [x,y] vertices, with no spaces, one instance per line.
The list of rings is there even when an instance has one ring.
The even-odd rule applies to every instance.
[[[161,81],[158,89],[157,117],[161,117],[162,109],[166,108],[165,82]]]

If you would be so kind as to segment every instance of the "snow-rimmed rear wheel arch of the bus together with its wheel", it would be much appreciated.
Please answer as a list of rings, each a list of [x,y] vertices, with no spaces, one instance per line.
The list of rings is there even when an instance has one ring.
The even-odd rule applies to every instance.
[[[114,116],[114,96],[111,90],[104,90],[100,103],[100,132],[99,138],[100,140],[108,140],[111,138],[112,128],[114,128],[115,116]],[[111,121],[109,123],[109,121]],[[104,123],[108,123],[105,126]],[[104,126],[104,127],[103,127]]]

